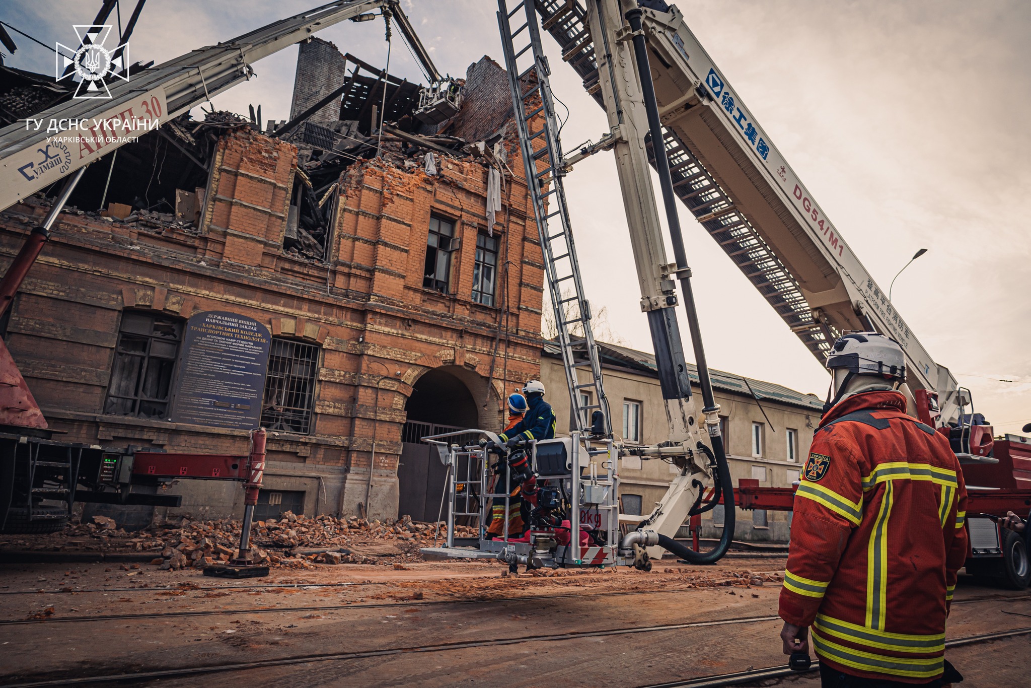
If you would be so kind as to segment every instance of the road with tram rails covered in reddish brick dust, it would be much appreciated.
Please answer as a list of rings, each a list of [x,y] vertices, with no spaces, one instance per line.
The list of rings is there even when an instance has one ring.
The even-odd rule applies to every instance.
[[[784,663],[775,619],[784,563],[667,560],[651,572],[503,578],[507,567],[497,562],[432,561],[274,568],[248,581],[146,564],[5,565],[0,682],[257,660],[292,663],[167,677],[160,685],[642,686],[714,676]],[[1031,626],[1031,618],[1004,613],[1031,615],[1026,593],[961,584],[956,598],[950,637]],[[971,598],[979,601],[963,601]],[[103,618],[110,616],[119,618]],[[997,670],[1008,681],[1006,662],[1021,665],[1027,643],[946,656],[976,657],[978,647],[1001,652]],[[320,659],[345,653],[377,656]]]

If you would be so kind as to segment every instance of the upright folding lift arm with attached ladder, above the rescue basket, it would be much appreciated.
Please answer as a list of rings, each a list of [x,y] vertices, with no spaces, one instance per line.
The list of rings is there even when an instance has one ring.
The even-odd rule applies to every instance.
[[[528,186],[534,199],[537,228],[543,249],[545,281],[555,318],[560,324],[558,343],[563,353],[574,418],[577,419],[578,429],[584,430],[585,417],[580,412],[585,409],[580,408],[578,401],[580,390],[592,388],[599,400],[604,399],[604,394],[600,366],[591,334],[590,307],[583,296],[583,285],[576,267],[570,221],[565,204],[562,177],[567,168],[561,159],[561,146],[554,122],[554,105],[547,81],[550,68],[539,44],[538,7],[542,4],[526,1],[509,9],[504,0],[499,0],[498,20],[505,52],[505,66],[509,72],[512,100],[516,105],[521,152],[526,176],[530,181]],[[571,3],[567,4],[567,7],[570,5]],[[627,17],[631,25],[636,23],[636,28],[626,26],[624,12],[627,10],[632,10]],[[659,209],[650,176],[646,137],[661,136],[661,124],[651,80],[642,83],[638,76],[651,73],[643,34],[639,30],[639,14],[635,3],[621,5],[620,0],[599,0],[589,5],[586,14],[578,15],[580,44],[591,37],[596,38],[594,50],[599,73],[598,95],[605,106],[610,127],[603,148],[612,150],[616,156],[634,265],[641,292],[640,305],[648,321],[669,428],[667,438],[658,445],[621,447],[617,454],[621,456],[632,454],[645,459],[665,459],[678,468],[678,474],[671,482],[662,501],[640,522],[638,531],[621,543],[620,549],[629,551],[633,548],[637,565],[646,565],[647,562],[647,557],[643,556],[641,548],[652,548],[647,554],[657,556],[660,554],[658,549],[660,547],[689,560],[708,563],[723,556],[733,536],[733,491],[720,435],[719,406],[712,395],[691,291],[691,270],[687,264],[676,216],[669,165],[664,155],[660,156],[658,162],[666,218],[675,256],[673,263],[669,263],[666,257]],[[543,26],[547,28],[548,22],[544,22]],[[554,26],[554,22],[551,26]],[[529,41],[522,50],[516,43],[517,37],[521,35],[525,36],[521,40]],[[633,42],[628,40],[630,36],[633,36]],[[518,60],[525,54],[533,56],[533,63],[524,69]],[[527,89],[525,80],[530,80],[533,84],[532,88]],[[541,116],[542,121],[539,125],[535,124]],[[539,130],[534,132],[538,126]],[[545,201],[551,207],[545,207]],[[558,220],[550,224],[548,220],[553,218]],[[698,414],[692,396],[677,325],[676,282],[679,282],[699,369],[704,403],[701,415]],[[562,291],[567,284],[573,292],[568,297]],[[575,302],[575,313],[572,318],[563,307],[570,302]],[[575,361],[572,355],[572,339],[565,329],[565,324],[574,321],[584,331],[584,343],[588,354],[588,360],[584,363]],[[576,368],[588,363],[591,365],[594,380],[583,384],[578,382]],[[601,401],[601,409],[596,412],[600,413],[600,422],[592,423],[591,431],[596,438],[610,437],[611,425],[605,406],[607,404]],[[574,439],[575,441],[578,440]],[[610,439],[608,441],[611,446]],[[614,463],[617,456],[611,453],[608,456],[608,461]],[[573,465],[573,470],[576,472],[578,470],[576,464]],[[690,516],[705,509],[700,505],[699,494],[705,484],[713,480],[720,488],[717,490],[718,494],[723,494],[728,505],[728,520],[720,545],[713,551],[702,555],[676,544],[673,537]],[[576,487],[573,488],[573,492],[578,494]],[[574,532],[576,523],[576,519],[573,519]]]

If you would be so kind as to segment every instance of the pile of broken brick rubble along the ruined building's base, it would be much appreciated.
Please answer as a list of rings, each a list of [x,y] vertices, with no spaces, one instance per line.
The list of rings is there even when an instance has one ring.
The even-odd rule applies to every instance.
[[[92,523],[71,524],[49,535],[4,535],[0,545],[29,549],[85,549],[105,553],[153,552],[151,563],[162,570],[203,568],[235,558],[240,521],[191,521],[176,527],[156,526],[127,532],[113,519],[94,516]],[[455,526],[457,537],[475,537],[475,528]],[[446,524],[369,521],[357,517],[306,518],[285,512],[279,519],[256,521],[251,531],[252,557],[266,565],[310,567],[327,564],[399,564],[420,559],[419,549],[439,545]],[[56,547],[57,546],[57,547]]]

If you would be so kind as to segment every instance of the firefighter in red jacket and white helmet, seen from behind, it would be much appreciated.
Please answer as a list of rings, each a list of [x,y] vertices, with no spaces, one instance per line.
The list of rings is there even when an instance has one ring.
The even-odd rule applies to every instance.
[[[827,367],[834,396],[795,495],[780,591],[785,654],[807,653],[811,627],[825,687],[941,686],[945,618],[967,553],[959,460],[905,414],[895,341],[846,334]]]

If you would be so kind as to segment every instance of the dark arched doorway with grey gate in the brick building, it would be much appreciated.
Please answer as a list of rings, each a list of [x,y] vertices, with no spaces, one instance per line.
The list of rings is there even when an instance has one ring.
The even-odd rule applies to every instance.
[[[485,399],[473,395],[477,388],[486,395],[486,381],[455,365],[434,368],[415,381],[404,406],[408,419],[397,468],[398,518],[407,514],[415,521],[437,520],[447,471],[436,449],[419,438],[478,427]]]

